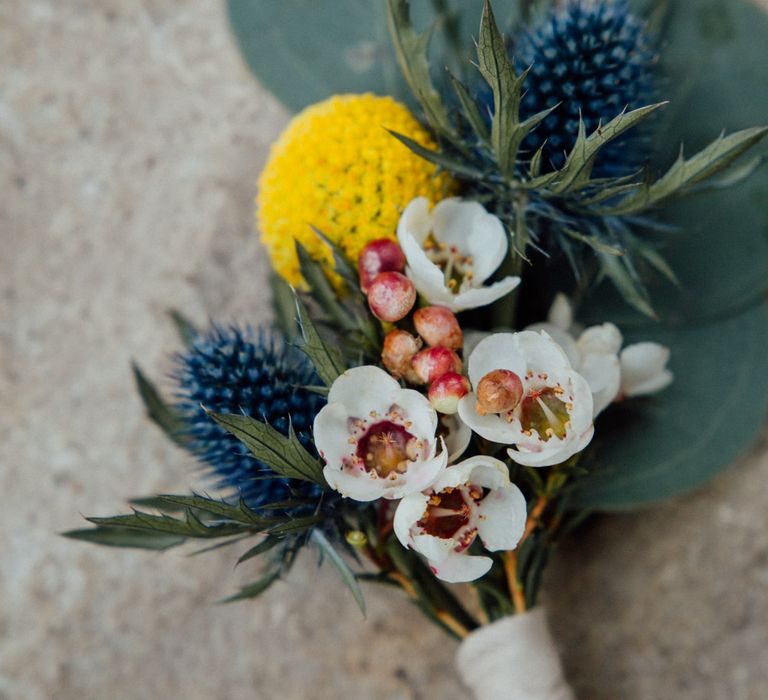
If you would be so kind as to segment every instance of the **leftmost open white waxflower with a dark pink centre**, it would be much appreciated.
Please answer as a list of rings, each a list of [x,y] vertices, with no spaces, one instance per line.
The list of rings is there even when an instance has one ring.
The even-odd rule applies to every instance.
[[[325,480],[356,501],[423,491],[448,461],[437,452],[437,413],[418,391],[378,367],[347,370],[315,417],[314,440]]]

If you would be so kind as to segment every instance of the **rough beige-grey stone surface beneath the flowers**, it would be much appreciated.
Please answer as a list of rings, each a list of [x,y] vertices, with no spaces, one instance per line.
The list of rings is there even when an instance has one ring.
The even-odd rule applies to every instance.
[[[465,698],[454,643],[395,592],[372,592],[363,621],[307,560],[217,607],[253,575],[229,553],[57,536],[188,486],[129,361],[167,369],[169,306],[266,317],[251,200],[288,115],[206,0],[6,0],[0,56],[0,698]],[[579,697],[768,697],[765,448],[563,548],[546,593]]]

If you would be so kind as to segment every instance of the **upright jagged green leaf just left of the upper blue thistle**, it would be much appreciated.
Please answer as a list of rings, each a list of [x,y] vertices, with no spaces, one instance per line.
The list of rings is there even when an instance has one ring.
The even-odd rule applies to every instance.
[[[504,44],[504,37],[496,25],[488,0],[485,0],[480,20],[477,64],[480,73],[493,91],[491,146],[496,154],[499,170],[506,177],[511,177],[520,144],[530,130],[521,128],[520,124],[520,100],[528,70],[523,71],[519,76],[515,73],[515,67],[509,59],[507,47]]]

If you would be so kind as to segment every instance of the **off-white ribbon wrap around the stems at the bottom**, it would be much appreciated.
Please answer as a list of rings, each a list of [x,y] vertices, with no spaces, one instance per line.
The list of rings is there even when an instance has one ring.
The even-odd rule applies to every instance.
[[[574,700],[543,608],[480,627],[456,662],[477,700]]]

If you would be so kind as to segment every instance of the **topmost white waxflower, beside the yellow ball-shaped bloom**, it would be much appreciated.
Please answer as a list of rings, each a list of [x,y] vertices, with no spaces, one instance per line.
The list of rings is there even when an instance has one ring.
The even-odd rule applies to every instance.
[[[430,304],[451,311],[485,306],[509,294],[519,277],[484,286],[507,255],[507,233],[498,217],[478,202],[451,197],[432,211],[414,199],[397,225],[406,274]]]

